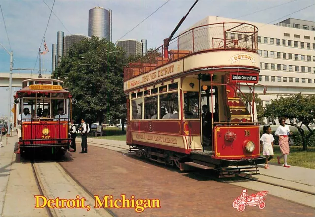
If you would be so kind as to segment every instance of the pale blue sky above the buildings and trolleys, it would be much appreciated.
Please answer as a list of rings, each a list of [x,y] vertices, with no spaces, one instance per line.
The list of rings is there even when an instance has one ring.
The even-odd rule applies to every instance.
[[[43,2],[52,7],[54,0],[1,0],[1,6],[6,27],[14,52],[14,68],[39,68],[36,58],[47,26],[50,9]],[[101,6],[113,11],[113,42],[135,27],[167,0],[56,0],[53,12],[63,22],[51,15],[45,34],[45,40],[50,52],[44,57],[44,68],[51,70],[52,44],[57,43],[57,31],[64,35],[88,35],[88,11],[95,6]],[[293,1],[293,2],[291,2]],[[122,39],[147,39],[148,48],[159,47],[163,39],[167,38],[176,27],[180,19],[187,13],[195,0],[170,0],[155,14],[149,17],[136,29]],[[280,7],[268,9],[252,15],[243,16],[251,12],[269,8],[285,2],[291,2]],[[206,16],[221,16],[239,18],[243,20],[269,23],[292,17],[314,21],[314,6],[286,16],[308,5],[314,0],[199,0],[193,10],[176,32],[175,36],[192,24]],[[274,22],[274,23],[276,23]],[[0,16],[0,43],[10,49],[2,15]],[[41,49],[44,50],[43,43]],[[36,65],[35,65],[36,63]],[[0,46],[0,72],[9,72],[10,56]],[[30,71],[25,71],[30,73]],[[38,73],[34,71],[33,73]],[[0,91],[2,89],[0,88]],[[1,92],[3,93],[3,92]],[[4,96],[0,100],[7,101]],[[6,114],[0,106],[0,115]]]

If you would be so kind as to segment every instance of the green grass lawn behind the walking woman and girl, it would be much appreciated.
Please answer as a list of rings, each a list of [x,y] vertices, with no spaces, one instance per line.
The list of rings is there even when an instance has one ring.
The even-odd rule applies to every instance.
[[[292,166],[315,169],[315,147],[307,147],[308,150],[306,152],[302,151],[302,148],[302,146],[290,146],[287,163]],[[280,155],[279,145],[274,145],[274,158],[270,162],[277,163],[277,156]],[[280,159],[280,162],[284,164],[284,158]]]

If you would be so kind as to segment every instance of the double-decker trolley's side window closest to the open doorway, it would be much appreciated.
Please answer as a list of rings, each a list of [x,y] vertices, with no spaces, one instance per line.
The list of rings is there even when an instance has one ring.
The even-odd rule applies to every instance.
[[[184,119],[199,119],[199,92],[184,91]]]

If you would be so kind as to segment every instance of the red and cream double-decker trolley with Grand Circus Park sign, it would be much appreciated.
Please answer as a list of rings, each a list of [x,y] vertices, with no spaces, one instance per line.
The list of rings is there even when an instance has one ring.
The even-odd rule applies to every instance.
[[[254,95],[259,85],[257,36],[257,27],[246,23],[197,26],[129,63],[130,152],[181,170],[189,165],[221,176],[258,174],[265,157],[254,97],[241,100],[245,88]]]

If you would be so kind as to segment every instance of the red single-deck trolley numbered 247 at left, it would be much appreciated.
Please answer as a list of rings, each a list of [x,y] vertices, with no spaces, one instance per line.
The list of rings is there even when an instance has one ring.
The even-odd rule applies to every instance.
[[[76,103],[63,81],[50,78],[27,79],[14,96],[19,141],[14,152],[21,156],[51,150],[64,155],[70,148],[68,136],[71,105]]]

